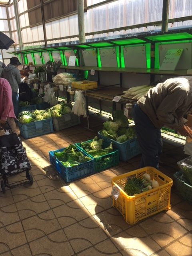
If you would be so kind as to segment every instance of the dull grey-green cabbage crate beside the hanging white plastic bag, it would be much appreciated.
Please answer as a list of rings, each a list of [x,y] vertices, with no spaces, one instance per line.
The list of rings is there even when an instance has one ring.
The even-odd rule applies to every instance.
[[[53,117],[53,126],[55,131],[60,131],[77,124],[80,124],[80,118],[74,113],[68,113],[61,117]]]

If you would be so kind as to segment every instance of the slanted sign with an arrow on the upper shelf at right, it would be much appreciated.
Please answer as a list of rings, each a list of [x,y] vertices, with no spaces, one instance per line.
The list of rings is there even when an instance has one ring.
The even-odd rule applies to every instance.
[[[167,50],[164,60],[160,66],[160,70],[171,70],[174,71],[180,57],[182,55],[183,49],[169,49]]]

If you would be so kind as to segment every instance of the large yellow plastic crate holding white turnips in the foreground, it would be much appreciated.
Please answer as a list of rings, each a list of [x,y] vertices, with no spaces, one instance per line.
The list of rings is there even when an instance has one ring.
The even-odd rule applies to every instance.
[[[125,186],[128,177],[142,179],[144,173],[150,174],[151,180],[157,180],[159,187],[136,196],[128,196],[121,189],[121,186]],[[139,220],[171,208],[170,194],[172,184],[171,178],[153,167],[144,167],[116,176],[112,178],[112,186],[120,190],[120,194],[117,200],[113,197],[113,206],[123,215],[128,224],[135,224]]]

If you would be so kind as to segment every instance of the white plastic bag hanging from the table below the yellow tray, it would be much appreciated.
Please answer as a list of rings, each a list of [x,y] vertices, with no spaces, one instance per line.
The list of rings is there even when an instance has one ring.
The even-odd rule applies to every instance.
[[[86,117],[86,100],[82,91],[75,91],[75,103],[71,112],[78,116]]]

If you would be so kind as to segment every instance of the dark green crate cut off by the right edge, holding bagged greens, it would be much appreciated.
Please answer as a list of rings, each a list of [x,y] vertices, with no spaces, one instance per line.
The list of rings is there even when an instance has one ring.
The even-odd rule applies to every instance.
[[[187,184],[181,179],[183,171],[176,172],[173,174],[174,176],[174,184],[180,194],[180,196],[187,201],[188,203],[192,204],[192,186]]]

